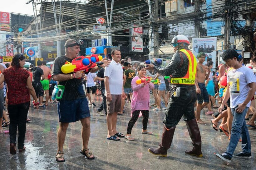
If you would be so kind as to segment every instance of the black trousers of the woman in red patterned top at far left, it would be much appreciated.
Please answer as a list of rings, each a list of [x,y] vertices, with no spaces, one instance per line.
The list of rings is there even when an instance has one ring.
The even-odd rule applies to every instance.
[[[17,127],[19,131],[18,149],[23,149],[26,134],[27,112],[30,102],[11,105],[8,104],[8,113],[10,117],[10,143],[16,143]]]

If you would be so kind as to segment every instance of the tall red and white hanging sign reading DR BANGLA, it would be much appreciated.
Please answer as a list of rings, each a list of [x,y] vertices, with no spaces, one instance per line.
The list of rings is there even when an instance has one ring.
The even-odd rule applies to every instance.
[[[136,25],[132,25],[131,28],[131,51],[135,52],[143,52],[143,29],[142,27],[135,27]],[[134,28],[135,27],[135,28]]]

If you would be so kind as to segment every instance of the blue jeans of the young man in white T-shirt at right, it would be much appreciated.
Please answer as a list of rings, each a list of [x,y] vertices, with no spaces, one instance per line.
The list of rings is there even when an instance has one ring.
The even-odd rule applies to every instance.
[[[238,106],[236,106],[235,108],[231,108],[231,112],[234,118],[232,122],[230,141],[226,151],[226,154],[228,154],[230,158],[234,154],[234,151],[236,149],[240,136],[242,137],[243,152],[245,154],[251,153],[251,140],[250,140],[249,131],[245,122],[245,115],[247,113],[248,107],[244,109],[243,113],[237,113],[235,111],[237,107]]]

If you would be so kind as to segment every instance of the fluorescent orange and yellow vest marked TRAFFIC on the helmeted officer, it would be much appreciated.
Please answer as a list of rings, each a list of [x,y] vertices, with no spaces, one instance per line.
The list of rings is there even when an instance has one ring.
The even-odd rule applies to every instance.
[[[187,74],[181,78],[171,78],[171,84],[182,84],[182,85],[194,85],[195,84],[195,74],[196,74],[196,59],[193,53],[189,50],[181,49],[180,52],[184,53],[189,60],[189,67]]]

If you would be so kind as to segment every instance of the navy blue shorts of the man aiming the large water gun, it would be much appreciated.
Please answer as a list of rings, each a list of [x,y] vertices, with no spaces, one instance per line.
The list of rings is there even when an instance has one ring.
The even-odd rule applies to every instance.
[[[59,121],[64,123],[76,122],[90,117],[86,98],[76,100],[60,100],[58,102]]]

